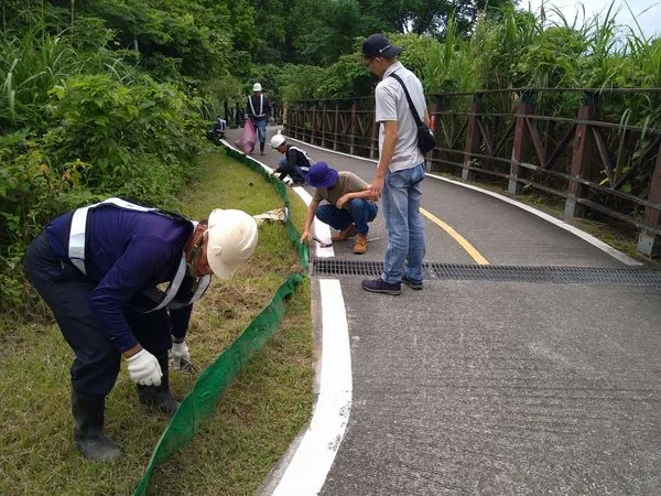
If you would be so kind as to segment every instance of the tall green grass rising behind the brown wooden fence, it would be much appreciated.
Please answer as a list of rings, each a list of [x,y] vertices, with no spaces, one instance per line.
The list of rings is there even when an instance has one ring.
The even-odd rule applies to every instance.
[[[533,14],[506,4],[481,13],[470,36],[448,17],[443,37],[393,33],[404,46],[400,60],[419,74],[429,94],[491,88],[659,88],[661,40],[648,40],[632,28],[618,26],[610,13],[582,25],[550,23],[546,12]],[[326,67],[313,98],[370,95],[369,74],[360,72],[359,45]],[[348,67],[347,67],[348,66]],[[335,76],[343,85],[328,85]],[[632,105],[635,101],[627,101]],[[647,115],[659,103],[642,98]],[[573,107],[575,108],[575,106]],[[619,108],[620,112],[627,107]],[[644,112],[641,109],[641,114]]]

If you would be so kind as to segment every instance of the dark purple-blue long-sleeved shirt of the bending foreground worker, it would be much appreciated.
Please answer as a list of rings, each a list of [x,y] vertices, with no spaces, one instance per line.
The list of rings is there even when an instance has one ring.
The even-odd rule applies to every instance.
[[[51,248],[68,260],[73,212],[46,226]],[[123,314],[136,294],[174,278],[193,225],[153,212],[134,212],[102,205],[90,209],[85,240],[87,277],[97,283],[89,303],[121,352],[138,344]],[[192,305],[171,311],[172,334],[184,337]]]

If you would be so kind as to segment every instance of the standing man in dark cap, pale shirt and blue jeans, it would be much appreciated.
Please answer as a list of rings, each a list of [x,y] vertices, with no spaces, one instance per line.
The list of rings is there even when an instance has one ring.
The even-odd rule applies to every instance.
[[[425,251],[420,216],[424,157],[418,148],[418,125],[404,87],[427,126],[430,117],[420,79],[397,60],[402,50],[382,34],[372,34],[362,43],[366,67],[381,77],[375,90],[375,118],[381,123],[379,164],[370,190],[377,197],[383,195],[388,229],[383,272],[379,279],[364,280],[362,289],[393,295],[401,293],[402,282],[414,290],[422,289]]]

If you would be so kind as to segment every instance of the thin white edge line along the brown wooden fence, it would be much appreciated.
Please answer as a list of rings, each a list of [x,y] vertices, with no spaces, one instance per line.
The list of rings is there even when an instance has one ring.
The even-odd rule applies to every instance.
[[[365,157],[350,155],[348,153],[343,153],[343,152],[338,152],[338,151],[330,150],[330,149],[327,149],[327,148],[317,147],[316,144],[310,144],[310,143],[306,143],[305,141],[296,140],[294,138],[288,137],[288,140],[297,141],[297,142],[303,143],[303,144],[305,144],[307,147],[312,147],[312,148],[315,148],[317,150],[323,150],[323,151],[326,151],[326,152],[329,152],[329,153],[336,153],[336,154],[343,155],[343,157],[350,157],[353,159],[359,159],[359,160],[364,160],[364,161],[367,161],[367,162],[378,163],[378,161],[373,160],[373,159],[367,159]],[[521,209],[523,209],[523,211],[525,211],[525,212],[528,212],[528,213],[530,213],[532,215],[537,215],[538,217],[540,217],[540,218],[542,218],[542,219],[544,219],[544,220],[546,220],[546,222],[549,222],[549,223],[551,223],[551,224],[560,227],[561,229],[564,229],[564,230],[573,234],[574,236],[578,236],[584,241],[586,241],[586,242],[590,244],[592,246],[594,246],[595,248],[598,248],[602,251],[610,255],[613,258],[621,261],[622,263],[625,263],[627,266],[638,266],[638,267],[642,266],[642,262],[639,262],[638,260],[629,257],[628,255],[622,254],[620,250],[613,248],[610,245],[607,245],[606,242],[602,241],[600,239],[595,238],[593,235],[587,234],[584,230],[581,230],[577,227],[574,227],[574,226],[572,226],[572,225],[570,225],[570,224],[567,224],[567,223],[565,223],[563,220],[560,220],[560,219],[553,217],[552,215],[545,214],[542,211],[539,211],[539,209],[537,209],[534,207],[525,205],[524,203],[518,202],[517,200],[509,198],[507,196],[503,196],[503,195],[498,194],[498,193],[494,193],[494,192],[488,191],[488,190],[483,190],[479,186],[474,186],[472,184],[465,184],[465,183],[462,183],[459,181],[453,181],[451,179],[443,177],[441,175],[432,174],[430,172],[425,173],[425,175],[429,176],[429,177],[433,177],[435,180],[445,181],[446,183],[455,184],[457,186],[467,187],[468,190],[477,191],[479,193],[484,193],[486,195],[489,195],[489,196],[492,196],[495,198],[501,200],[502,202],[507,202],[510,205],[519,207],[519,208],[521,208]]]

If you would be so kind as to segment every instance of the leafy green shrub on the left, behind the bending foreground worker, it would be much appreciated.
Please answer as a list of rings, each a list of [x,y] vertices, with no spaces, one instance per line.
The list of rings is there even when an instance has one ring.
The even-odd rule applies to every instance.
[[[56,215],[111,195],[176,207],[196,166],[198,103],[170,85],[76,75],[50,97],[48,132],[0,136],[0,309],[24,301],[20,261]]]

